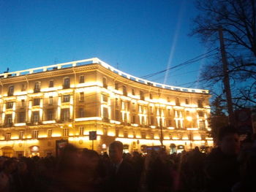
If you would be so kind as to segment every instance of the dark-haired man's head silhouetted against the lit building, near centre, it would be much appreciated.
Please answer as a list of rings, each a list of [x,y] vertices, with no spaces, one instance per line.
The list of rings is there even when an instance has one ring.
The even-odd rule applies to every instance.
[[[122,155],[123,144],[118,141],[112,142],[109,146],[110,160],[113,161],[114,164],[118,164],[122,159]]]

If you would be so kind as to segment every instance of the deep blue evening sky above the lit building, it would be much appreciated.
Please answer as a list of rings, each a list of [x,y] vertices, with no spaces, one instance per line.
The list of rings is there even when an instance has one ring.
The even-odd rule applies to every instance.
[[[192,0],[0,0],[0,12],[0,72],[97,57],[143,77],[206,52],[187,36]],[[148,80],[188,87],[203,62]]]

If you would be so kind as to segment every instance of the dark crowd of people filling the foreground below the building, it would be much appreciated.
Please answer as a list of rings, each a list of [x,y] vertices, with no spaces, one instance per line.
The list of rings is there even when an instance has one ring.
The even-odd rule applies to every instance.
[[[218,145],[208,154],[198,147],[130,154],[115,141],[103,155],[67,145],[58,158],[0,157],[1,192],[256,191],[255,174],[255,138],[240,143],[232,127],[220,129]]]

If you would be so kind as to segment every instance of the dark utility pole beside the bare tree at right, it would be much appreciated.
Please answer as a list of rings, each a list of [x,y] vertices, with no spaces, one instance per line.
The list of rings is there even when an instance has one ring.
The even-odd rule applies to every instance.
[[[225,88],[226,93],[226,99],[227,99],[227,111],[228,111],[228,118],[229,123],[231,126],[235,125],[235,118],[233,113],[233,104],[232,104],[232,96],[230,91],[230,78],[228,74],[228,68],[227,68],[227,57],[225,52],[225,44],[223,40],[223,32],[222,32],[222,26],[219,26],[219,45],[220,45],[220,51],[222,53],[222,68],[223,68],[223,84]]]

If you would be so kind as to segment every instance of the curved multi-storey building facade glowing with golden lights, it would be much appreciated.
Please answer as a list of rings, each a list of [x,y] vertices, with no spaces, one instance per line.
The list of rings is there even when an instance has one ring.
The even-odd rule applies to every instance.
[[[101,153],[212,146],[210,95],[121,72],[98,58],[0,74],[0,155],[56,155],[67,142]],[[90,131],[97,139],[89,140]]]

